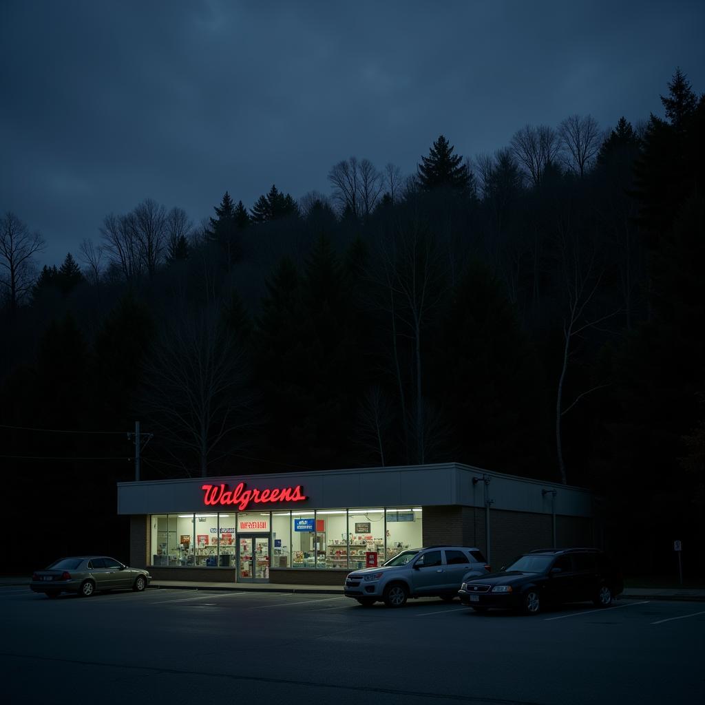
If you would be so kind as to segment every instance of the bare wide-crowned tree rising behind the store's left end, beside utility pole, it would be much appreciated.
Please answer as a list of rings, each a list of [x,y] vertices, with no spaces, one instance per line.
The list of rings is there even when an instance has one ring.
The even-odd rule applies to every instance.
[[[240,447],[252,426],[243,353],[219,310],[213,302],[197,312],[184,307],[161,332],[145,369],[145,412],[173,448],[195,454],[202,477],[209,463]]]

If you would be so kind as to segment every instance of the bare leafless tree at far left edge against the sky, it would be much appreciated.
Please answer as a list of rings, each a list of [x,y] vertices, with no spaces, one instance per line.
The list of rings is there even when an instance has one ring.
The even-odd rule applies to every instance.
[[[0,221],[0,286],[14,315],[34,283],[34,255],[44,250],[44,238],[14,213]]]

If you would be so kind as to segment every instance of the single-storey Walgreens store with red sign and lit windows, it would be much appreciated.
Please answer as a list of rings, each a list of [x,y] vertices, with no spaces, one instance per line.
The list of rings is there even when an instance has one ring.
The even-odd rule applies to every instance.
[[[589,491],[446,463],[124,482],[130,564],[158,580],[342,584],[405,548],[599,546]]]

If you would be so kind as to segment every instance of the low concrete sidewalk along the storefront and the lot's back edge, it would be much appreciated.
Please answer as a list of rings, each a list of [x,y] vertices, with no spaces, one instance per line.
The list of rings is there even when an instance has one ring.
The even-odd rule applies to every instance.
[[[28,575],[0,575],[0,587],[27,585]],[[342,585],[290,585],[238,582],[188,582],[182,580],[152,580],[152,588],[184,590],[234,590],[251,592],[296,592],[326,595],[342,595]],[[673,600],[705,602],[705,589],[629,587],[620,594],[627,600]]]

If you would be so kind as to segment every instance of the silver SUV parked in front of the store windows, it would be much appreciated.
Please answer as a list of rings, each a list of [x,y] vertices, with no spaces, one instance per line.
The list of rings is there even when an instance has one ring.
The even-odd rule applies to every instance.
[[[450,602],[463,580],[489,572],[478,548],[428,546],[411,548],[390,558],[379,568],[363,568],[348,574],[345,596],[368,607],[382,600],[401,607],[410,597],[441,597]]]

